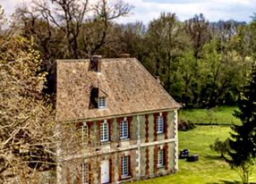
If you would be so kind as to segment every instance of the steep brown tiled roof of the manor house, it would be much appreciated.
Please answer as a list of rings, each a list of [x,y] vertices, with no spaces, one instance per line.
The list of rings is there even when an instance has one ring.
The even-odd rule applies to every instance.
[[[100,73],[90,60],[56,61],[56,120],[76,121],[179,108],[135,58],[100,59]],[[107,109],[90,109],[90,91],[106,96]]]

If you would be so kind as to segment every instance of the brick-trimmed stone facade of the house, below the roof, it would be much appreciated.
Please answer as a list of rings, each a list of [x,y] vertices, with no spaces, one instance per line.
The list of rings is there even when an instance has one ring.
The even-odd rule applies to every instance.
[[[163,115],[164,132],[156,131],[156,118]],[[129,122],[129,138],[121,140],[120,121]],[[100,142],[100,123],[104,120],[83,121],[89,128],[90,141],[81,146],[77,155],[68,156],[62,162],[61,183],[101,183],[100,163],[107,161],[108,183],[123,183],[148,179],[173,173],[177,166],[177,111],[131,114],[107,119],[109,141]],[[80,129],[76,129],[80,131]],[[164,150],[164,165],[158,166],[158,149]],[[88,151],[90,150],[90,151]],[[129,176],[121,176],[121,157],[129,156]],[[88,164],[87,171],[81,165]],[[86,173],[85,173],[86,172]],[[86,179],[85,179],[86,178]]]

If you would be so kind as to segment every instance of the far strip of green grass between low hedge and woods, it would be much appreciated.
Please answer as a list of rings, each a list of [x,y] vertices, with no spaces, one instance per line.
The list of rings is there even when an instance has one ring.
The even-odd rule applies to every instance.
[[[236,106],[219,106],[212,109],[183,109],[179,112],[181,120],[192,121],[194,124],[239,124],[240,120],[235,118]]]

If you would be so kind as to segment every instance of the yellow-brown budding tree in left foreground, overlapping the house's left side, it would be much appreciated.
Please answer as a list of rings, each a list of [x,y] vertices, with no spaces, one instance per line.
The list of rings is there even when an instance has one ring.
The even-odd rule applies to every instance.
[[[35,183],[55,168],[54,115],[40,56],[18,33],[0,38],[0,180]]]

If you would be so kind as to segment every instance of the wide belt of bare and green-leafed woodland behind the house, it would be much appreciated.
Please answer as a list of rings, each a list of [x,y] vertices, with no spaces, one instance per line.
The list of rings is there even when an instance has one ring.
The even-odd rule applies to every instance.
[[[121,0],[33,2],[32,8],[16,10],[12,27],[34,38],[43,58],[41,69],[49,71],[47,93],[53,92],[50,70],[55,59],[128,53],[186,106],[235,105],[255,53],[253,22],[212,23],[203,14],[182,22],[175,13],[161,13],[148,26],[117,24],[117,18],[132,10]]]

